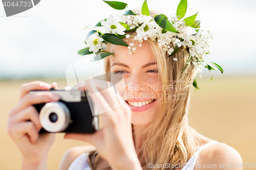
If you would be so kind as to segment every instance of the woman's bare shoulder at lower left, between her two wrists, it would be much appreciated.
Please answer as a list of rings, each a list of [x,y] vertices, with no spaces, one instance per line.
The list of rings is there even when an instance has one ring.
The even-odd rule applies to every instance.
[[[59,170],[68,170],[72,162],[82,153],[87,153],[95,150],[93,145],[85,145],[80,147],[70,148],[62,157]]]

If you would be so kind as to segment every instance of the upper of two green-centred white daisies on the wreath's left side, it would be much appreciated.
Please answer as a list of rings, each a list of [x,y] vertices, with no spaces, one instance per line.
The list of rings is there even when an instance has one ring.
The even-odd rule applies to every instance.
[[[122,18],[119,15],[115,17],[110,15],[109,18],[106,18],[106,21],[100,21],[100,23],[105,27],[105,33],[124,35],[125,33],[123,31],[125,31],[125,28],[118,23],[120,21],[122,21]]]

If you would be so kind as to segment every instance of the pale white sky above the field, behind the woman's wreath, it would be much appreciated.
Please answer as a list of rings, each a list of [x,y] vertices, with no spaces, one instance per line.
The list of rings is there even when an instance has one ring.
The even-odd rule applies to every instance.
[[[140,9],[144,1],[122,2],[133,10]],[[179,2],[147,0],[150,10],[167,15],[176,12]],[[255,7],[254,0],[188,0],[185,17],[198,12],[201,28],[213,36],[207,61],[221,65],[226,76],[256,74]],[[0,79],[66,78],[73,63],[84,66],[86,76],[100,75],[102,62],[92,63],[92,55],[77,54],[86,47],[84,40],[90,30],[84,26],[123,12],[100,0],[41,0],[25,12],[6,17],[0,4]],[[202,75],[210,76],[206,69]],[[222,75],[215,71],[214,76]]]

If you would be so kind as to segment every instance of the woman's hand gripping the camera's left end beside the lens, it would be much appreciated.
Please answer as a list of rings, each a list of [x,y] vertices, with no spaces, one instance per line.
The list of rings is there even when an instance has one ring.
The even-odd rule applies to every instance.
[[[35,81],[23,84],[20,99],[9,113],[7,131],[23,156],[23,169],[46,169],[47,155],[55,134],[39,134],[42,128],[34,104],[58,101],[58,95],[44,92],[29,94],[31,90],[49,90],[57,84]]]

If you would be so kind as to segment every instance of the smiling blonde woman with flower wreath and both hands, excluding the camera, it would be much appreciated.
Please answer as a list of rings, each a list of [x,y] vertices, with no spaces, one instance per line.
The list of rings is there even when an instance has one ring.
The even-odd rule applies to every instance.
[[[127,6],[104,2],[116,9]],[[222,73],[223,69],[204,60],[209,53],[210,33],[197,35],[197,14],[181,20],[186,6],[187,1],[181,0],[177,16],[168,19],[163,14],[150,13],[145,0],[142,11],[125,12],[131,18],[111,16],[95,26],[104,26],[105,33],[96,29],[88,34],[86,42],[91,44],[78,53],[95,53],[94,61],[104,59],[105,72],[121,76],[125,86],[115,85],[117,92],[111,93],[102,88],[111,80],[84,82],[82,91],[92,94],[92,102],[101,113],[102,128],[92,134],[67,133],[65,138],[87,141],[95,148],[70,149],[59,169],[226,170],[229,166],[220,165],[232,163],[236,165],[234,170],[242,169],[242,159],[236,150],[188,125],[190,92],[193,86],[197,87],[195,76],[200,66],[206,64],[209,70]],[[123,32],[116,30],[121,26]],[[8,132],[22,152],[24,169],[46,169],[54,140],[54,134],[38,134],[41,125],[32,105],[60,100],[50,92],[35,95],[29,91],[56,86],[43,82],[23,85],[20,101],[10,111]],[[111,107],[117,105],[116,99],[118,107]]]

